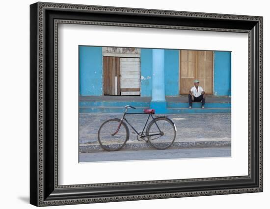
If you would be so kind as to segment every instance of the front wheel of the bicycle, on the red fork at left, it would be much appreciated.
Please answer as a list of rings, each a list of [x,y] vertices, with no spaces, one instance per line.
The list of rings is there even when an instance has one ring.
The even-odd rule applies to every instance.
[[[120,150],[129,139],[129,130],[127,125],[118,118],[105,121],[99,128],[98,140],[100,146],[107,151]],[[118,130],[118,131],[117,131]],[[116,133],[117,131],[117,133]]]

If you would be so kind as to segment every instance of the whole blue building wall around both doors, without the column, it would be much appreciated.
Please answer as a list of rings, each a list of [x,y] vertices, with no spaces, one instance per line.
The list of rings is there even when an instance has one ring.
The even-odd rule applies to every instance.
[[[102,47],[80,46],[80,95],[103,95]],[[141,96],[152,96],[152,49],[141,49]],[[165,50],[165,96],[179,94],[179,50]],[[214,52],[214,95],[231,96],[231,52]]]

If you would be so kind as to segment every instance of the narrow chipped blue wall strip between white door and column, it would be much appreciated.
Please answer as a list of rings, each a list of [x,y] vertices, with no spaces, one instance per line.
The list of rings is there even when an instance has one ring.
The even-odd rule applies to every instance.
[[[141,49],[141,96],[152,96],[152,49]]]

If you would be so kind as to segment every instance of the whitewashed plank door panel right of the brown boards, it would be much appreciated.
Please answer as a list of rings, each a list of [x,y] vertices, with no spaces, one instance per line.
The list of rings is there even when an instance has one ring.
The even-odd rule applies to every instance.
[[[121,95],[140,95],[140,58],[120,58]]]

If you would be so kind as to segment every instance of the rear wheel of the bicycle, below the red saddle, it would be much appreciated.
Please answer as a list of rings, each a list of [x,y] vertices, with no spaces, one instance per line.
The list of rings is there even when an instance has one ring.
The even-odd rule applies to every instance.
[[[156,135],[151,136],[151,134]],[[149,135],[148,141],[154,148],[164,150],[170,147],[174,142],[176,128],[170,119],[159,117],[149,123],[146,135]]]

